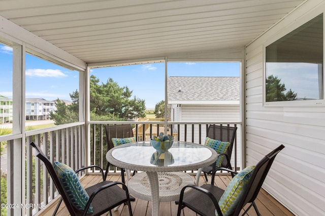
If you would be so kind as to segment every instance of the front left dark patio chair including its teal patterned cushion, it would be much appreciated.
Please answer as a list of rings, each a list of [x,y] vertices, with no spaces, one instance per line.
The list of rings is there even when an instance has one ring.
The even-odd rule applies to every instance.
[[[62,200],[66,204],[70,215],[101,215],[110,211],[112,216],[111,209],[123,203],[128,205],[129,215],[133,215],[126,185],[121,182],[105,181],[104,171],[101,167],[91,165],[74,171],[71,167],[60,162],[52,164],[38,145],[34,142],[31,142],[30,145],[36,149],[36,156],[45,164],[54,185],[61,195],[53,215],[56,214]],[[103,182],[84,189],[76,174],[90,167],[100,168]]]

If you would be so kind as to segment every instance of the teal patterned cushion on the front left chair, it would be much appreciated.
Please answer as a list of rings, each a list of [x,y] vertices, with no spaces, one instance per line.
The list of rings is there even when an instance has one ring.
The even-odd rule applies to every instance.
[[[89,195],[80,184],[76,172],[70,166],[61,162],[54,162],[54,169],[71,203],[77,209],[83,211],[86,207]],[[90,205],[87,213],[92,212],[92,205]]]

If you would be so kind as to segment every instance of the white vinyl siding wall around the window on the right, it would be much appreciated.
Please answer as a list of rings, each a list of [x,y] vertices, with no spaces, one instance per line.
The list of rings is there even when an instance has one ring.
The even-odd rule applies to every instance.
[[[308,1],[246,48],[247,165],[283,144],[263,188],[296,215],[325,214],[325,107],[263,106],[263,49],[320,13]]]

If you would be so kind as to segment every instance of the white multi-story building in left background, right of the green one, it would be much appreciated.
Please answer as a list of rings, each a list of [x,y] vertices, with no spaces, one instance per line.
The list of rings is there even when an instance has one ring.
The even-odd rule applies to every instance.
[[[55,102],[43,98],[26,98],[26,120],[46,120],[55,111]]]

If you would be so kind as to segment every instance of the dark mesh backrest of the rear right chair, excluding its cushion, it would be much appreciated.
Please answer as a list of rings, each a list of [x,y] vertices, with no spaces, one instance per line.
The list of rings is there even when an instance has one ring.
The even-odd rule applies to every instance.
[[[234,146],[234,141],[236,138],[236,131],[237,127],[234,126],[222,126],[222,125],[217,125],[217,124],[210,124],[208,127],[207,131],[207,137],[214,139],[214,140],[220,140],[223,142],[230,142],[230,145],[227,149],[227,155],[229,159],[232,157],[232,152],[233,152],[233,146]],[[222,160],[222,167],[228,167],[228,162],[226,160],[226,157],[223,157]]]

